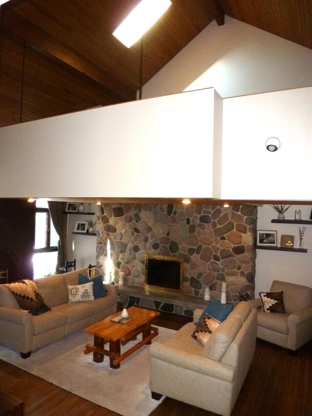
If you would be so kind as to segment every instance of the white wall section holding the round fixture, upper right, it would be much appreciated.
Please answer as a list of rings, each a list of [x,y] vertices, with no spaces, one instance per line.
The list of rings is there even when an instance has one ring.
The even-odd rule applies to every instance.
[[[312,87],[224,99],[222,198],[311,200],[311,132]]]

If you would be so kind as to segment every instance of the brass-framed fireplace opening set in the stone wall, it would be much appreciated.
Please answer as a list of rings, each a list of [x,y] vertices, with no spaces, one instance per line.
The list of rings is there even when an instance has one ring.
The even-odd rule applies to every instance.
[[[183,290],[183,258],[146,254],[145,287],[181,293]]]

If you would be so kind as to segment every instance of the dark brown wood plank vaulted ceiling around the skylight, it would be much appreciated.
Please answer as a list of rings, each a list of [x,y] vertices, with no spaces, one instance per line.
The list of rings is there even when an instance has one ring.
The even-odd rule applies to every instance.
[[[112,33],[138,2],[10,0],[3,4],[1,72],[7,64],[7,73],[0,93],[8,110],[0,125],[136,99],[140,85],[213,20],[223,24],[224,15],[312,49],[312,0],[172,0],[142,44],[138,41],[128,49]],[[16,71],[16,79],[10,79],[11,71]],[[54,80],[57,76],[62,79],[59,84]],[[14,81],[21,83],[20,90],[11,86],[8,92]],[[24,94],[20,109],[19,94]],[[41,97],[37,104],[35,97]],[[49,111],[43,110],[46,102]]]

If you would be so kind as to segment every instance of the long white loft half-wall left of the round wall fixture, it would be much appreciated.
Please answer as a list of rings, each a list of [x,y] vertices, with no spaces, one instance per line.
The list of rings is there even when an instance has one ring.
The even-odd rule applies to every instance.
[[[2,127],[0,198],[212,198],[221,133],[213,88]]]

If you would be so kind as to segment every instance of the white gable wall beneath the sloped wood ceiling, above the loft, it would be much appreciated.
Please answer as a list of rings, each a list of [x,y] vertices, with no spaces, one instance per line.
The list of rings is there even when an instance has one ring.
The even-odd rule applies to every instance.
[[[143,98],[213,87],[222,98],[312,85],[312,50],[225,16],[147,82]]]

